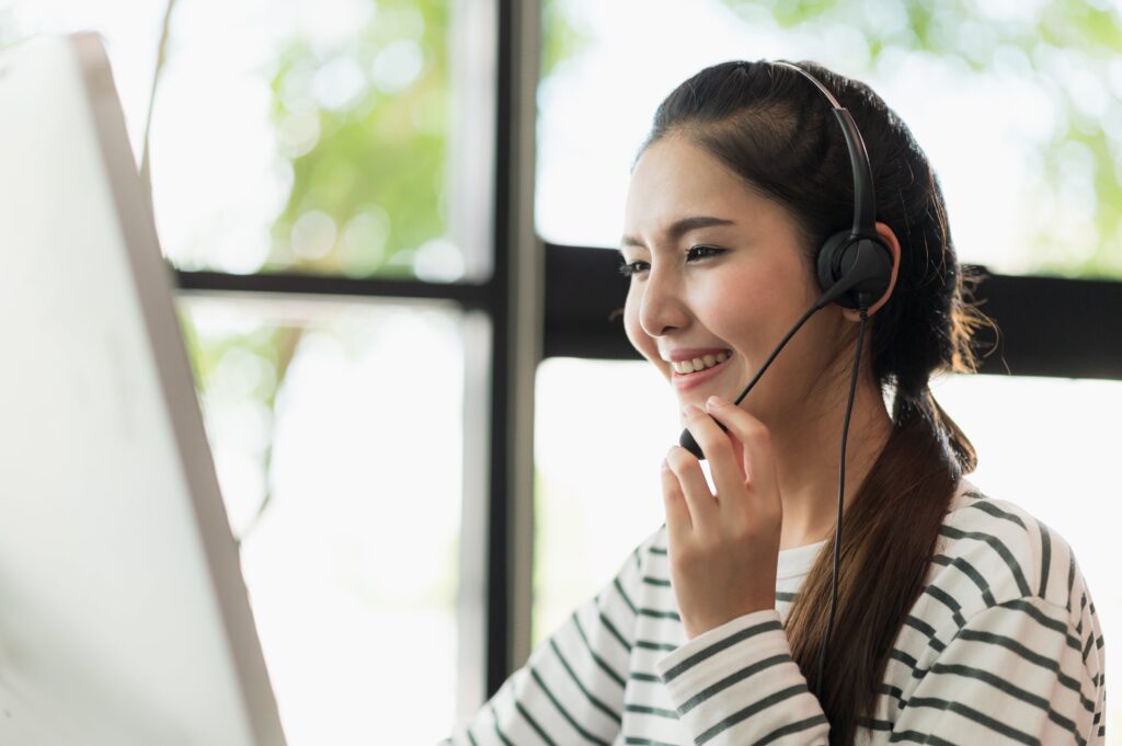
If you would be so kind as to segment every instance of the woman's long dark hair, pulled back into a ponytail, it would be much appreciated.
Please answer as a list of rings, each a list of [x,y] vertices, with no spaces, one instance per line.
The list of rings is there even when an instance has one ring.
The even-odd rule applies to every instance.
[[[973,305],[939,182],[908,127],[867,85],[800,63],[849,110],[865,141],[876,219],[900,241],[888,302],[871,317],[872,376],[892,389],[893,427],[845,515],[838,611],[824,681],[818,654],[830,599],[833,552],[822,551],[787,621],[795,662],[848,746],[875,713],[893,642],[922,591],[959,477],[977,458],[935,402],[932,372],[973,371],[974,330],[990,323]],[[659,107],[640,148],[681,136],[783,205],[801,227],[808,271],[827,237],[853,223],[853,173],[829,101],[799,73],[766,62],[727,62],[679,85]],[[637,159],[637,156],[636,156]],[[827,547],[833,542],[827,542]]]

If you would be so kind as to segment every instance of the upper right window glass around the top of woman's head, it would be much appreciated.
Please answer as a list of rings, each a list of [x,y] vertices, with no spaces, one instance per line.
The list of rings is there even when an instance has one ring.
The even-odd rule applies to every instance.
[[[728,59],[813,59],[868,82],[909,125],[962,260],[1122,277],[1116,3],[546,7],[536,223],[549,241],[618,243],[632,159],[681,81]]]

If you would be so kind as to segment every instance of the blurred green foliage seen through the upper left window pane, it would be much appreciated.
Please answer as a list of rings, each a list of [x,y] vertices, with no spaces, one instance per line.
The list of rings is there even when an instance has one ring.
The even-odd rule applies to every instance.
[[[270,269],[408,276],[416,249],[444,234],[448,3],[379,0],[374,7],[346,47],[315,49],[296,39],[278,61],[274,120],[284,128],[289,117],[312,116],[319,137],[292,159],[292,191],[273,229]],[[421,71],[399,88],[371,72],[394,66],[384,54],[397,57],[401,68],[417,52]],[[358,95],[334,105],[318,100],[322,76],[340,70],[365,76]],[[310,211],[331,219],[334,240],[329,229],[324,251],[302,255],[293,250],[293,228]],[[374,229],[348,234],[356,218],[373,221]]]

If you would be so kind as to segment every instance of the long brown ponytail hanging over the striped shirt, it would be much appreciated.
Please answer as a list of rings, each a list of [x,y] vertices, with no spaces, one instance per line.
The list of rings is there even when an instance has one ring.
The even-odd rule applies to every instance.
[[[974,446],[930,389],[898,393],[889,440],[845,514],[835,641],[818,681],[833,552],[822,551],[787,620],[791,653],[830,721],[830,744],[853,743],[875,712],[893,643],[923,590],[947,506]],[[964,455],[968,454],[968,457]],[[833,535],[825,546],[833,546]]]

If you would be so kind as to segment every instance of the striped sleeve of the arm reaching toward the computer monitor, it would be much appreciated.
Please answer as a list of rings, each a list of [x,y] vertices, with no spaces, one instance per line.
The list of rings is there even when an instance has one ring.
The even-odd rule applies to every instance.
[[[609,746],[623,721],[636,614],[631,599],[642,582],[641,549],[443,744]]]

